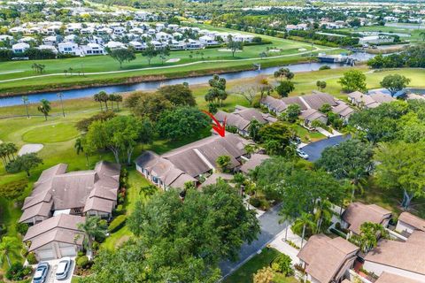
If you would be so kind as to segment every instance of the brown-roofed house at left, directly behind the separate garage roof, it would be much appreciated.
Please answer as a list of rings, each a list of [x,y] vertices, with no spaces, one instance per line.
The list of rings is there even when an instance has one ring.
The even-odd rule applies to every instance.
[[[19,223],[35,225],[60,213],[111,218],[120,187],[120,164],[100,161],[94,170],[66,172],[57,164],[42,172],[22,206]]]

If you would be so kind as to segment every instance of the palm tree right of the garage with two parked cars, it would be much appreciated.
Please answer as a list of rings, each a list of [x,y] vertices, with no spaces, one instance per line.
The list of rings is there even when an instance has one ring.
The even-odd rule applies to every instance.
[[[84,223],[78,224],[78,229],[84,232],[84,247],[91,249],[93,242],[97,239],[104,239],[108,231],[106,222],[97,216],[86,217]]]

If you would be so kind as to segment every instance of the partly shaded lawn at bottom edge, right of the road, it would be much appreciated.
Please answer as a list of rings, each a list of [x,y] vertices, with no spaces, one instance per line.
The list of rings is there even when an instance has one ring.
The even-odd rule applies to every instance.
[[[239,267],[236,272],[225,279],[224,283],[248,283],[252,282],[253,275],[261,268],[270,266],[274,257],[281,253],[277,249],[263,249],[259,255],[252,257],[248,262]],[[275,273],[274,283],[297,283],[294,277],[284,277],[282,274]]]

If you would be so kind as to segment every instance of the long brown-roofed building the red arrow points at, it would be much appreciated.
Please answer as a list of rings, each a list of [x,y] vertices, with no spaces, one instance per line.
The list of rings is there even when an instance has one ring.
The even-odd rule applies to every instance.
[[[241,166],[244,147],[250,143],[237,134],[226,133],[225,137],[213,135],[161,156],[145,151],[135,160],[136,170],[163,189],[183,187],[188,181],[197,184],[199,177],[217,171],[220,156],[230,157],[230,170]]]

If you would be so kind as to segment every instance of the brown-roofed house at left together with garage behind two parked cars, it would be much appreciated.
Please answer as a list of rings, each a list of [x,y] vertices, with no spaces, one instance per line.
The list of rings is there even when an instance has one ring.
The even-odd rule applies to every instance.
[[[42,172],[22,206],[19,223],[30,225],[23,241],[39,260],[76,256],[86,216],[109,219],[117,205],[120,164],[100,161],[94,170],[66,172],[57,164]]]

